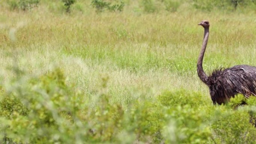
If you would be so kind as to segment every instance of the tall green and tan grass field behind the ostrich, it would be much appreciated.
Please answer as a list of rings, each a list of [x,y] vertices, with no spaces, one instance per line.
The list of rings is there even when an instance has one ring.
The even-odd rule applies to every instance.
[[[38,13],[43,16],[39,18]],[[49,16],[44,16],[44,13]],[[207,100],[207,88],[196,74],[196,60],[203,35],[203,28],[196,24],[201,19],[210,19],[211,22],[210,40],[204,59],[204,69],[210,73],[220,66],[256,65],[253,53],[256,30],[252,16],[92,13],[60,17],[39,10],[22,15],[8,11],[6,18],[11,17],[13,20],[10,22],[6,19],[2,23],[4,28],[1,29],[1,37],[4,39],[1,47],[4,51],[1,51],[1,69],[13,64],[6,60],[10,58],[5,56],[6,51],[9,51],[9,55],[15,55],[18,59],[21,67],[31,70],[30,73],[41,69],[47,71],[49,65],[60,64],[65,71],[76,73],[71,74],[70,81],[81,89],[88,87],[85,83],[77,83],[83,81],[81,77],[88,75],[86,79],[98,83],[97,79],[104,73],[111,77],[109,85],[113,85],[113,92],[118,91],[118,94],[120,88],[115,83],[117,79],[123,82],[121,91],[124,93],[127,93],[124,88],[129,87],[129,83],[135,89],[143,85],[157,91],[183,87],[202,91],[207,95]],[[13,28],[15,42],[9,37]],[[67,63],[65,59],[74,60]],[[76,61],[80,67],[72,67]],[[79,74],[82,67],[87,69],[84,76]],[[121,77],[115,77],[116,73],[120,73]],[[67,76],[70,77],[68,72]],[[196,85],[193,85],[195,82]],[[95,86],[89,87],[93,89]]]

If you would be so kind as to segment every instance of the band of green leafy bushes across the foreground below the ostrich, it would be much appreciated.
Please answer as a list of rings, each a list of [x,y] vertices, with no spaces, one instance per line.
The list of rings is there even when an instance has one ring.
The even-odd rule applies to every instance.
[[[125,110],[107,92],[96,100],[68,85],[61,69],[21,75],[0,87],[1,143],[255,143],[256,98],[213,106],[184,89],[132,99]],[[102,89],[107,89],[103,79]],[[240,106],[242,101],[248,105]],[[234,110],[235,109],[235,110]]]

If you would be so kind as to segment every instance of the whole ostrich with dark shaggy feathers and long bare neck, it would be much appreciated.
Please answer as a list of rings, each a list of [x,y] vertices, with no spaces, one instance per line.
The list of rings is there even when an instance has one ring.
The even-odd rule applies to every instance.
[[[204,40],[197,61],[197,73],[202,82],[209,87],[213,104],[226,103],[237,94],[243,94],[247,98],[251,95],[256,96],[256,67],[236,65],[215,70],[210,76],[204,73],[202,61],[208,42],[210,24],[208,21],[202,21],[198,25],[204,27]]]

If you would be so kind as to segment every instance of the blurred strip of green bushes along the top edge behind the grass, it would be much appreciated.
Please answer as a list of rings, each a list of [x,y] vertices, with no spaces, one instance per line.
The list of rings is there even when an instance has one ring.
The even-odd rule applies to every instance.
[[[22,9],[30,10],[33,7],[37,7],[40,0],[5,0],[9,4],[11,10]],[[66,12],[70,13],[71,5],[74,3],[80,3],[76,5],[76,8],[80,11],[92,6],[97,12],[121,12],[124,10],[125,6],[131,8],[131,1],[129,0],[91,0],[90,3],[84,1],[76,0],[61,0],[64,3],[64,9]],[[51,6],[52,3],[57,3],[57,1],[47,2],[43,1]],[[136,3],[136,2],[135,2]],[[212,11],[212,10],[223,10],[223,11],[235,11],[235,10],[246,10],[252,9],[256,10],[255,0],[137,0],[138,9],[147,12],[159,12],[161,10],[166,10],[168,12],[177,12],[181,6],[193,7],[198,10]],[[135,8],[135,7],[133,7]],[[137,7],[136,7],[137,9]],[[138,11],[140,11],[138,10]]]

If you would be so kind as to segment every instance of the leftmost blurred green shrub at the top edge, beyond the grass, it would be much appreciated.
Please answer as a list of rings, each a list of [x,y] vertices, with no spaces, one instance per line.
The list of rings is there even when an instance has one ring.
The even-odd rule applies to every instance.
[[[10,5],[10,9],[21,9],[21,10],[30,10],[33,7],[37,7],[40,0],[9,0],[8,4]]]

